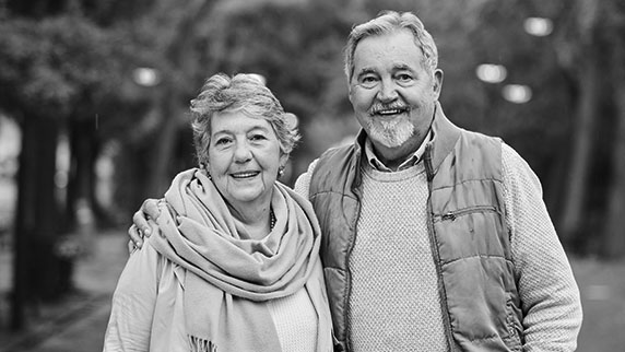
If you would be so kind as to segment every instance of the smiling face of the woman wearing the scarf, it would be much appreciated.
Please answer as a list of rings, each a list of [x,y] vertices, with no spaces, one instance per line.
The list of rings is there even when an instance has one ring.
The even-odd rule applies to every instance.
[[[215,187],[235,209],[269,204],[286,157],[266,119],[241,112],[213,115],[207,166]]]

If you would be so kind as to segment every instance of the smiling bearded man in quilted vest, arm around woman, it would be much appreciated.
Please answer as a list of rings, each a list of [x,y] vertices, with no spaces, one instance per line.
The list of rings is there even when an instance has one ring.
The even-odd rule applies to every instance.
[[[412,13],[355,26],[362,131],[296,183],[323,233],[335,350],[574,351],[579,291],[540,181],[500,139],[449,121],[437,56]]]

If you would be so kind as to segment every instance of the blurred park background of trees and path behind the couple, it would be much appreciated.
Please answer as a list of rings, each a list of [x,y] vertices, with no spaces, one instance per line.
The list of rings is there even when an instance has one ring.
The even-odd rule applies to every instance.
[[[209,75],[260,74],[298,117],[287,185],[351,141],[342,49],[382,9],[433,34],[447,116],[541,179],[582,294],[579,351],[622,351],[623,0],[0,0],[0,351],[52,351],[107,315],[131,214],[196,164],[188,104]],[[103,319],[76,351],[101,350]]]

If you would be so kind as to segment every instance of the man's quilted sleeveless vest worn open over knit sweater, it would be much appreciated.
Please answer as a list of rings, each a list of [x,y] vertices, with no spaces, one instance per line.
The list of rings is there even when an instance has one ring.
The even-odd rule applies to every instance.
[[[502,142],[453,126],[437,104],[423,162],[428,233],[450,351],[521,351],[522,314],[514,275],[502,181]],[[317,163],[310,201],[321,225],[321,260],[334,350],[350,351],[350,254],[361,209],[361,132]]]

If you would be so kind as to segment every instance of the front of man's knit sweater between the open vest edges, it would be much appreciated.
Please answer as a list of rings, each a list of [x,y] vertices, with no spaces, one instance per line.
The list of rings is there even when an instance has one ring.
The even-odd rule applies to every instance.
[[[355,351],[447,350],[422,165],[397,173],[369,166],[363,173],[363,208],[350,257],[347,321]]]

